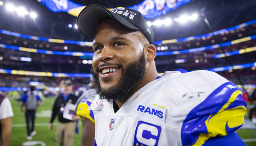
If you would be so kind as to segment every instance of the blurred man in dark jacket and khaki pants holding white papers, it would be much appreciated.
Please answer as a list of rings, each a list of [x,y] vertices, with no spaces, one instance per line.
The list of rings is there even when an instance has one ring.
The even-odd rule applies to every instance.
[[[53,129],[53,120],[56,115],[58,116],[56,140],[59,146],[73,146],[74,134],[76,129],[76,115],[73,115],[71,120],[63,118],[63,111],[67,103],[75,104],[78,97],[72,95],[73,84],[70,80],[63,82],[63,93],[59,93],[59,96],[55,100],[52,108],[52,118],[50,119],[49,129]],[[60,86],[61,88],[62,86]]]

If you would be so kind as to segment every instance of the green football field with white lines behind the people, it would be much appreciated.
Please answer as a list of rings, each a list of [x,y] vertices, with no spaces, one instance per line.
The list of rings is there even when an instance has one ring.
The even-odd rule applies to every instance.
[[[35,119],[35,135],[32,141],[41,141],[44,142],[46,146],[58,146],[55,141],[55,131],[56,125],[53,127],[53,130],[48,129],[48,123],[50,121],[49,116],[51,113],[52,105],[55,98],[44,99],[43,104],[38,107],[37,117]],[[12,109],[14,112],[14,117],[12,118],[12,137],[10,146],[22,146],[23,142],[26,142],[26,125],[25,125],[25,115],[20,112],[20,106],[17,104],[16,100],[11,100]],[[57,118],[54,120],[54,123],[57,122]],[[74,146],[80,146],[82,125],[79,126],[79,135],[75,134]],[[254,137],[254,130],[237,130],[238,135],[246,142],[248,146],[256,146],[256,137]],[[33,145],[31,145],[33,146]],[[41,146],[37,144],[35,146]]]

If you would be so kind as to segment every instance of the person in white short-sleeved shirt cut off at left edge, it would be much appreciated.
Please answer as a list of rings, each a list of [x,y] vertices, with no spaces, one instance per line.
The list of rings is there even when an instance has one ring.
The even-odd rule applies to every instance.
[[[0,95],[0,146],[9,146],[10,144],[13,115],[10,100]]]

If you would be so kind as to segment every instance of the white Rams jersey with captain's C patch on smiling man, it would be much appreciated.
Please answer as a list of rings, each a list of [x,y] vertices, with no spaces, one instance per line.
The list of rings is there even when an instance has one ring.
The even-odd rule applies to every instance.
[[[106,100],[94,105],[95,146],[202,146],[240,128],[247,111],[240,88],[204,70],[166,72],[116,113]]]

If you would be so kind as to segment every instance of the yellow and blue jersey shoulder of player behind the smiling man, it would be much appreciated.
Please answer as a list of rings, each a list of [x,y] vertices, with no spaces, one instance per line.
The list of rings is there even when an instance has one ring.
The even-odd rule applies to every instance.
[[[93,111],[88,110],[89,106],[91,105],[91,102],[92,101],[90,99],[83,98],[78,104],[76,115],[83,116],[91,120],[93,123],[95,123]]]

